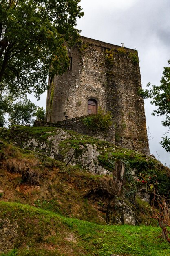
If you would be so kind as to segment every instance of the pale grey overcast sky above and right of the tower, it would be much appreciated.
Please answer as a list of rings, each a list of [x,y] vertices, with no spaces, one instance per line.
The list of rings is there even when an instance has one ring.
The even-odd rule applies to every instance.
[[[170,58],[170,0],[81,0],[84,17],[77,20],[81,35],[137,49],[142,86],[159,85],[163,67]],[[39,106],[45,108],[45,96]],[[145,101],[150,153],[170,165],[170,154],[159,144],[166,128],[163,118],[151,115],[154,106]],[[157,155],[158,154],[158,155]]]

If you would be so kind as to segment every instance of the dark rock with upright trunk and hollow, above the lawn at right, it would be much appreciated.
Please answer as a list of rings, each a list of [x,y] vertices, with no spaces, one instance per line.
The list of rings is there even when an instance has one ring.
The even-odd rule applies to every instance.
[[[125,164],[117,160],[115,166],[113,177],[109,175],[99,178],[95,188],[88,190],[85,197],[91,200],[95,209],[106,214],[106,223],[135,225],[134,187],[126,187]]]

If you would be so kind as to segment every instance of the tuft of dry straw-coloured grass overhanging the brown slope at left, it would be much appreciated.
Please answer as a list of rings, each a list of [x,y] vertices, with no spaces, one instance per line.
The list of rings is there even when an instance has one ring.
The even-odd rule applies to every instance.
[[[37,164],[37,160],[25,158],[10,158],[6,162],[7,171],[21,174],[22,180],[31,185],[38,185],[40,181],[41,172]]]

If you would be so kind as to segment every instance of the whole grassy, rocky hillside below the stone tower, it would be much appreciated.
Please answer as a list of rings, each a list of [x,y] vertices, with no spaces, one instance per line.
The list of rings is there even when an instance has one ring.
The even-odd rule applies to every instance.
[[[90,161],[107,174],[91,173],[91,165],[82,164],[89,145],[97,152]],[[55,157],[54,149],[60,161],[48,157],[51,152]],[[74,157],[66,166],[69,152]],[[125,168],[119,195],[117,163]],[[16,250],[8,256],[170,255],[150,218],[150,205],[136,196],[141,188],[137,177],[145,175],[157,176],[160,193],[168,193],[169,169],[154,157],[52,127],[0,130],[0,251],[7,224],[17,234],[9,236],[10,249]],[[109,207],[112,219],[121,220],[122,202],[135,212],[140,226],[106,225]]]

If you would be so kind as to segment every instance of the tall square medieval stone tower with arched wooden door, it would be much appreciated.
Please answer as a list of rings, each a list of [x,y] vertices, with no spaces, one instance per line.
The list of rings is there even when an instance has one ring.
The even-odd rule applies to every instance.
[[[81,43],[68,49],[68,56],[68,70],[49,78],[46,121],[97,113],[100,106],[112,112],[113,141],[148,154],[137,51],[81,37]]]

